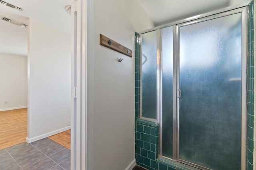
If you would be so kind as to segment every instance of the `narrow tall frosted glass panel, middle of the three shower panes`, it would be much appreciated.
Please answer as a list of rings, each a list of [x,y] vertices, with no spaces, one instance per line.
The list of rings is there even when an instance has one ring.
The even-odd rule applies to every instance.
[[[162,155],[172,158],[173,32],[162,29]]]

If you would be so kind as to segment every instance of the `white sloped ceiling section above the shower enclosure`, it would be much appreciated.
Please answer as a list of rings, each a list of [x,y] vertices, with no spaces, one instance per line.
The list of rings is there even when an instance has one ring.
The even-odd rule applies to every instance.
[[[156,26],[233,6],[246,0],[138,0]]]

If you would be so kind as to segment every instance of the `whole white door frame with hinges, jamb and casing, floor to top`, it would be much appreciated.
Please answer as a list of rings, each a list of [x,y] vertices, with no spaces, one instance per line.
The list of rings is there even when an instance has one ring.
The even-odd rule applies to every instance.
[[[91,156],[87,155],[92,154],[91,147],[87,147],[92,146],[92,121],[88,121],[92,120],[93,91],[92,0],[72,0],[71,26],[71,170],[89,170]]]

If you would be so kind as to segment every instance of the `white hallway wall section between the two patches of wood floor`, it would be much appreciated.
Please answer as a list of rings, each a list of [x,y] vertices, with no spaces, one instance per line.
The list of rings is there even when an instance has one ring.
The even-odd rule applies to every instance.
[[[68,127],[70,43],[70,34],[28,21],[28,142]]]

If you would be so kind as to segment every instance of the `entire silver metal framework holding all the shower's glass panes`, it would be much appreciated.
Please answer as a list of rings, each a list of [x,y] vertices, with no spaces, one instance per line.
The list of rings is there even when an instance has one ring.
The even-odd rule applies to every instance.
[[[178,113],[177,113],[179,101],[176,99],[178,98],[177,93],[178,93],[178,89],[179,89],[179,86],[177,83],[177,82],[179,82],[179,76],[177,76],[177,74],[178,74],[177,72],[179,71],[179,65],[178,65],[177,60],[179,59],[179,33],[180,33],[179,28],[180,28],[180,26],[184,26],[186,24],[192,24],[192,22],[194,22],[194,23],[202,22],[203,20],[208,20],[208,19],[214,18],[214,17],[218,18],[221,15],[225,16],[228,13],[234,14],[239,11],[242,12],[242,18],[244,18],[242,20],[242,32],[243,32],[242,33],[243,34],[242,44],[244,44],[244,47],[242,47],[242,55],[243,55],[242,56],[242,81],[246,82],[246,50],[247,50],[247,48],[246,48],[246,43],[247,43],[247,41],[246,41],[247,40],[246,39],[246,24],[247,24],[246,23],[246,19],[247,19],[246,14],[247,14],[247,6],[249,3],[250,3],[250,1],[247,1],[242,4],[235,5],[235,6],[221,8],[218,10],[214,10],[212,12],[207,12],[207,13],[200,14],[197,16],[192,16],[190,18],[178,20],[175,22],[164,24],[162,26],[157,26],[155,28],[151,28],[148,30],[138,32],[138,34],[140,34],[140,35],[147,33],[147,32],[155,31],[155,30],[157,30],[157,32],[161,33],[160,30],[162,30],[162,28],[173,26],[173,40],[174,40],[174,42],[175,41],[177,42],[177,43],[173,43],[173,53],[174,53],[174,57],[173,57],[173,63],[174,63],[174,68],[173,68],[173,75],[174,75],[173,76],[173,146],[174,146],[174,148],[173,148],[173,158],[172,159],[162,156],[162,109],[160,109],[162,107],[158,106],[159,109],[157,109],[157,119],[149,119],[149,118],[142,117],[142,113],[140,110],[140,119],[159,123],[159,130],[160,130],[159,156],[160,157],[169,159],[170,161],[173,161],[173,162],[181,162],[182,163],[182,161],[178,160],[179,154],[178,154],[178,150],[176,150],[176,148],[179,147],[179,141],[178,141],[179,120],[178,120]],[[162,43],[159,43],[159,40],[160,39],[162,40],[162,34],[158,34],[158,35],[161,36],[161,38],[158,37],[157,50],[160,50],[160,49],[162,49]],[[142,47],[142,45],[141,45],[141,47]],[[158,53],[157,57],[162,57],[162,55],[160,55],[160,54],[162,54],[162,53]],[[142,55],[142,53],[140,55]],[[176,56],[178,56],[178,57],[176,57]],[[162,92],[162,89],[159,92]],[[140,92],[140,94],[142,94],[142,93]],[[161,97],[161,96],[162,96],[161,94],[158,95],[158,97]],[[141,97],[141,95],[140,95],[140,97]],[[158,99],[158,101],[160,101],[160,99]],[[141,104],[142,103],[140,103],[140,105]],[[159,105],[159,102],[157,104]],[[140,106],[140,108],[141,108],[141,106]],[[242,112],[241,169],[245,170],[245,168],[246,168],[246,114],[244,112],[246,112],[246,83],[244,83],[242,85],[242,110],[243,110],[243,112]],[[188,164],[187,162],[184,162],[184,163]],[[190,165],[195,166],[194,164],[190,164]],[[200,166],[198,166],[198,167],[200,167]],[[200,167],[200,168],[202,168],[202,167]]]

